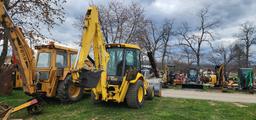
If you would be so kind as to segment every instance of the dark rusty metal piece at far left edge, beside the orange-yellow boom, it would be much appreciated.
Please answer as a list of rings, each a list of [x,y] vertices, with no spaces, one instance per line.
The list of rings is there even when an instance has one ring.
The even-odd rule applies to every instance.
[[[14,65],[2,65],[0,67],[0,96],[10,95],[13,89],[12,72]]]

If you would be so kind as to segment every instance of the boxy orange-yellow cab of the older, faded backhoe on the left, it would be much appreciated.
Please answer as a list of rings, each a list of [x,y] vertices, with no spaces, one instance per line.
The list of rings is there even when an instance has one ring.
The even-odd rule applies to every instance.
[[[35,48],[37,50],[37,79],[51,82],[49,81],[50,73],[55,73],[54,76],[57,76],[59,80],[65,79],[75,62],[77,50],[55,45],[54,43],[36,46]]]

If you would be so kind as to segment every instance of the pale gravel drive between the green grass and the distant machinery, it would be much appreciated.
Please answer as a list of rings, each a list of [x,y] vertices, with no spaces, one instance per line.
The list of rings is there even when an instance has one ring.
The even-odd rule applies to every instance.
[[[163,97],[213,100],[223,102],[256,103],[256,94],[207,92],[194,89],[163,89]]]

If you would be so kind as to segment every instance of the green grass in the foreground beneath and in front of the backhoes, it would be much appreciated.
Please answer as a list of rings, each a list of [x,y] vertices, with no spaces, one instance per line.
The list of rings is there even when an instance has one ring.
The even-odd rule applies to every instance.
[[[22,91],[12,96],[0,97],[0,101],[15,106],[28,100]],[[26,110],[12,118],[32,120],[255,120],[256,104],[234,104],[204,100],[155,98],[146,101],[142,109],[130,109],[125,104],[92,104],[89,97],[73,104],[50,103],[40,115],[28,115]]]

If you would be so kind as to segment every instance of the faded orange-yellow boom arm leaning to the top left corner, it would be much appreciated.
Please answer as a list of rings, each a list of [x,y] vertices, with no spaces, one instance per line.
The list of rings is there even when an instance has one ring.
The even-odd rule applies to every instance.
[[[24,91],[30,95],[35,93],[33,75],[35,72],[35,60],[32,49],[28,46],[21,29],[14,25],[4,6],[4,0],[0,1],[0,22],[5,32],[8,32],[12,49],[17,56],[18,68],[22,75]],[[6,33],[4,33],[6,34]]]

